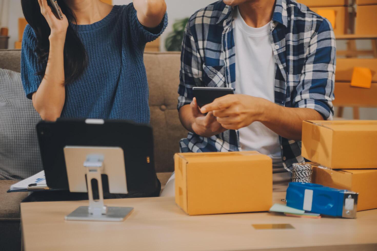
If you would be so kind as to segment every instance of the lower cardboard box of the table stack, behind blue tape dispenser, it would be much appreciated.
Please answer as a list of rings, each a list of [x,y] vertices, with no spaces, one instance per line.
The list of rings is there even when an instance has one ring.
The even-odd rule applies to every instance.
[[[313,166],[312,183],[359,193],[357,211],[377,208],[377,169],[333,170]]]

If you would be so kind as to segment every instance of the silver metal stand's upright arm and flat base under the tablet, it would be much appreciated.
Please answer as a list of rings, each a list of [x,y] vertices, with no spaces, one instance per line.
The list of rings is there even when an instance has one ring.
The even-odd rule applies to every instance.
[[[107,207],[103,204],[103,188],[101,173],[103,170],[103,155],[87,155],[84,167],[88,186],[89,207],[78,207],[68,214],[66,221],[124,221],[133,207]],[[99,199],[93,199],[92,179],[97,180]]]

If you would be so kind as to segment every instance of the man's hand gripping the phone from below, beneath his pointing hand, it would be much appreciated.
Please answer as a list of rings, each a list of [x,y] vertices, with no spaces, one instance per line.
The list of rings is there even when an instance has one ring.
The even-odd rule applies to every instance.
[[[179,118],[187,130],[203,137],[212,137],[227,130],[216,121],[216,117],[213,116],[212,112],[207,115],[200,112],[195,97],[190,105],[181,107]]]

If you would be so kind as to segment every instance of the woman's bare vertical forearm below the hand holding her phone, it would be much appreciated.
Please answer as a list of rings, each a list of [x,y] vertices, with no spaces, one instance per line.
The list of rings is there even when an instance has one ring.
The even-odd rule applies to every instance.
[[[64,37],[50,36],[50,50],[46,72],[32,100],[43,120],[55,121],[61,115],[65,102]]]

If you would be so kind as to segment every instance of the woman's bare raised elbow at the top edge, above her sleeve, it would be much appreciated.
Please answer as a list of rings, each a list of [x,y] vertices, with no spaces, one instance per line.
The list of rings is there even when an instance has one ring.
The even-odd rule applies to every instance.
[[[148,28],[157,27],[166,13],[165,0],[133,0],[138,20]]]

